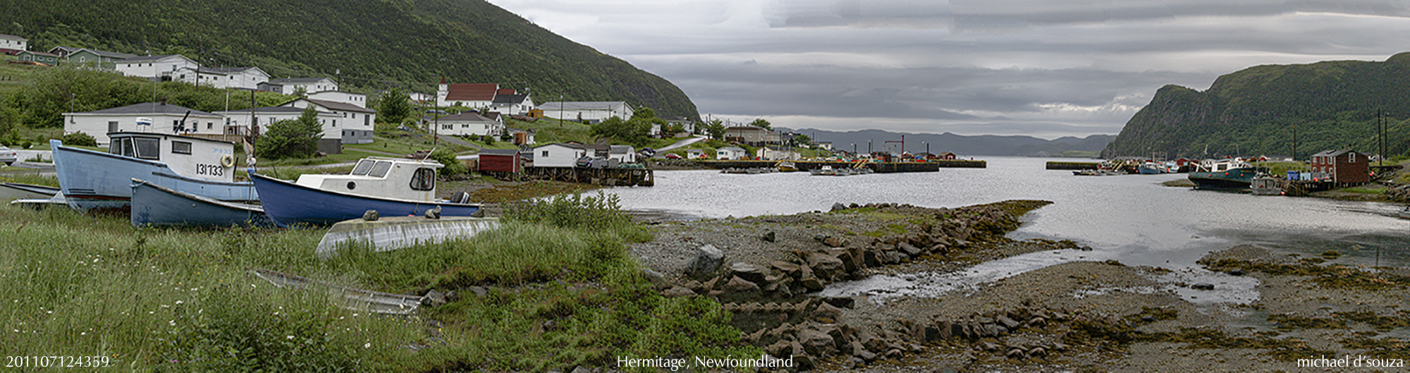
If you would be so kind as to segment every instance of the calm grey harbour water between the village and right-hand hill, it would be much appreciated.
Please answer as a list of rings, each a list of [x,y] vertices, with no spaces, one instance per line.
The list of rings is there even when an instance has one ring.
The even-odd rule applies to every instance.
[[[1115,259],[1132,266],[1194,270],[1201,256],[1239,243],[1279,251],[1316,254],[1338,250],[1341,263],[1371,264],[1380,249],[1382,266],[1410,263],[1410,220],[1400,206],[1318,198],[1255,196],[1251,194],[1169,188],[1169,175],[1074,177],[1043,170],[1043,158],[990,157],[988,168],[942,168],[939,172],[811,177],[807,172],[737,175],[718,171],[660,171],[656,186],[613,188],[630,211],[689,218],[788,215],[826,211],[833,202],[897,202],[957,208],[1004,199],[1045,199],[1053,205],[1029,213],[1017,239],[1070,239],[1094,251],[1043,251],[980,264],[966,278],[922,278],[919,288],[945,291],[991,281],[1012,273],[1070,260]],[[1170,278],[1186,280],[1189,278]],[[1215,278],[1231,288],[1255,283]],[[893,283],[887,283],[893,281]],[[1232,283],[1246,284],[1232,284]],[[829,291],[863,292],[876,288],[916,288],[914,278],[873,278]],[[949,284],[949,285],[946,285]],[[847,290],[847,285],[856,288]],[[1246,300],[1249,294],[1225,294]]]

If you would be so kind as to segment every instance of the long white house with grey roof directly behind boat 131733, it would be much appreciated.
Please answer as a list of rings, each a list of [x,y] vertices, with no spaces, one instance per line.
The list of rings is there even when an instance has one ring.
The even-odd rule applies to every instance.
[[[151,120],[151,124],[138,126],[138,119]],[[107,133],[220,134],[224,133],[224,122],[223,116],[214,113],[148,102],[93,112],[63,113],[63,133],[86,133],[100,146],[106,146],[109,143]]]

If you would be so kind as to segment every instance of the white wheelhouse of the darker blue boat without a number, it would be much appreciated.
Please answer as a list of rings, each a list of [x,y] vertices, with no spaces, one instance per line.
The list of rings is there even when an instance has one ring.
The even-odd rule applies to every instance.
[[[423,201],[436,199],[436,170],[431,160],[367,157],[347,175],[300,175],[295,184],[323,191],[375,198]]]

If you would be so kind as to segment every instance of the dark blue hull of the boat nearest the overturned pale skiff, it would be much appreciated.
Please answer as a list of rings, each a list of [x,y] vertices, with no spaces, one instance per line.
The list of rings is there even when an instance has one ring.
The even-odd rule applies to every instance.
[[[386,199],[323,191],[254,172],[250,174],[250,179],[259,191],[265,213],[279,226],[326,226],[361,218],[367,211],[376,211],[381,216],[420,216],[436,208],[441,209],[441,216],[471,216],[479,211],[479,205],[471,203]]]

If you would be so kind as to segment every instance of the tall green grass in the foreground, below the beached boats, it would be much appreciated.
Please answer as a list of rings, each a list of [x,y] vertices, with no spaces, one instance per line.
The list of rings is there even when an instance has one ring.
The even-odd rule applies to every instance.
[[[625,246],[644,239],[640,226],[532,223],[556,212],[526,211],[470,239],[389,253],[348,246],[320,260],[317,229],[138,230],[125,216],[0,205],[0,343],[14,355],[202,372],[541,372],[609,366],[615,356],[759,356],[718,304],[650,290]],[[575,216],[599,215],[616,216]],[[275,288],[248,268],[465,295],[413,316],[374,316],[323,292]],[[462,288],[471,284],[488,294]]]

